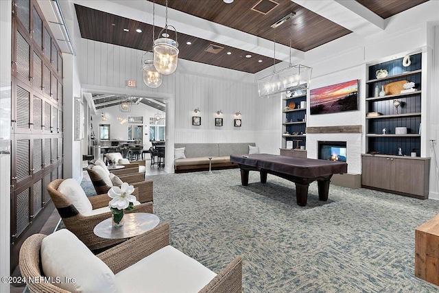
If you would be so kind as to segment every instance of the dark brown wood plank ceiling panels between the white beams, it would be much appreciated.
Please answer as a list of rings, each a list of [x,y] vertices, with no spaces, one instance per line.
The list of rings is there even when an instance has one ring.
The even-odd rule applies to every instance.
[[[151,1],[151,0],[148,0]],[[356,0],[361,5],[386,19],[394,14],[410,9],[428,0]],[[152,2],[152,1],[151,1]],[[156,0],[157,5],[165,5],[165,0]],[[200,5],[203,3],[204,5]],[[223,0],[168,1],[169,9],[179,10],[207,21],[226,25],[285,46],[290,45],[300,51],[309,51],[332,40],[350,34],[351,31],[328,19],[307,10],[291,0],[235,0],[225,4]],[[152,48],[152,25],[127,19],[115,14],[94,10],[75,4],[82,38],[130,47],[142,51]],[[256,10],[265,10],[263,13]],[[292,25],[289,21],[273,29],[271,25],[283,16],[294,12]],[[152,23],[152,21],[148,20]],[[129,32],[124,32],[128,29]],[[136,30],[142,30],[137,33]],[[161,31],[155,28],[155,36]],[[173,32],[169,32],[172,37]],[[187,45],[191,42],[191,45]],[[188,34],[178,33],[179,58],[225,67],[248,73],[257,73],[273,65],[273,56],[262,56],[250,51],[237,49],[227,44],[213,43]],[[224,47],[217,54],[205,51],[211,45]],[[228,54],[228,52],[230,54]],[[251,55],[251,58],[246,58]],[[276,63],[281,62],[276,60]]]

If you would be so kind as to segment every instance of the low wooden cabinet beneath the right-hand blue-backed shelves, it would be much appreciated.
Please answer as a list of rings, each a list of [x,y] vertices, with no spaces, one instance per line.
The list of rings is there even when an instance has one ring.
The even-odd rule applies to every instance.
[[[428,198],[429,158],[361,156],[361,185],[395,194]]]

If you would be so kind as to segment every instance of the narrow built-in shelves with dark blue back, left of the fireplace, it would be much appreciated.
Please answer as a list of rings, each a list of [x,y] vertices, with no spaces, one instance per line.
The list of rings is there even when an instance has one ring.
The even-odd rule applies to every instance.
[[[283,97],[282,146],[286,149],[306,145],[307,137],[307,90],[285,93]]]

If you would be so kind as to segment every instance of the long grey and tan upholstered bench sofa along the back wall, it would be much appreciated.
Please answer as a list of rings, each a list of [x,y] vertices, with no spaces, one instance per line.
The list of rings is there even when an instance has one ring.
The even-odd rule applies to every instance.
[[[174,148],[176,173],[206,171],[209,157],[212,158],[212,169],[235,168],[238,165],[230,163],[230,154],[259,152],[255,143],[174,143]]]

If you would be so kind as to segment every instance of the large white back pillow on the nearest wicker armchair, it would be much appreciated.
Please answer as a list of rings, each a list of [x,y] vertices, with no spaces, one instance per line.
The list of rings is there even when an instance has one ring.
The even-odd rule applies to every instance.
[[[45,237],[40,255],[44,276],[51,277],[59,288],[69,292],[122,292],[104,261],[67,229]],[[75,281],[66,281],[69,279]]]

